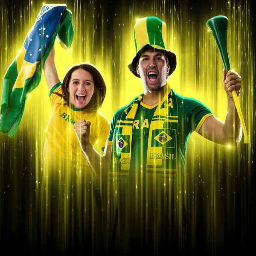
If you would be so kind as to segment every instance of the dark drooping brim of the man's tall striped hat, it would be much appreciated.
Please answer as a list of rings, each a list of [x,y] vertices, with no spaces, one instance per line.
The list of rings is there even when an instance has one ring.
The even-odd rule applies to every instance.
[[[143,48],[141,48],[140,51],[143,50]],[[131,73],[133,73],[134,76],[137,76],[137,77],[140,77],[140,75],[137,73],[137,70],[136,70],[137,63],[138,63],[138,54],[140,53],[140,51],[137,52],[137,54],[134,56],[132,61],[128,64],[128,68],[131,71]],[[169,64],[170,64],[170,70],[168,73],[168,75],[170,76],[176,68],[177,58],[176,58],[175,52],[172,52],[170,50],[165,50],[165,52],[166,52],[166,57],[168,58]]]

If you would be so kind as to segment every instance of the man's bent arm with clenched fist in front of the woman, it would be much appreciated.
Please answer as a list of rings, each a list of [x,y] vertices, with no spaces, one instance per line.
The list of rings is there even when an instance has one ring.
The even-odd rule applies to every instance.
[[[74,125],[76,136],[92,171],[107,180],[112,146],[106,144],[103,156],[99,154],[89,141],[90,125],[91,123],[84,119],[77,121]]]

